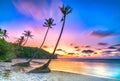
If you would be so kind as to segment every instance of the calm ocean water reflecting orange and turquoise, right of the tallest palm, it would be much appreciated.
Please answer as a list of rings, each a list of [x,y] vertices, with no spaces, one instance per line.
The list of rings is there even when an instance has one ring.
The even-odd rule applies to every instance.
[[[52,70],[120,79],[118,59],[57,59],[50,64]]]

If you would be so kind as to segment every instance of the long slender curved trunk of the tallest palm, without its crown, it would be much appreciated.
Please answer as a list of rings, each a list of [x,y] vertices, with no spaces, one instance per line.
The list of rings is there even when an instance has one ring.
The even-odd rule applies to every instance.
[[[52,53],[53,56],[54,56],[54,54],[55,54],[55,51],[56,51],[56,49],[57,49],[57,46],[58,46],[58,44],[59,44],[59,41],[60,41],[60,39],[61,39],[61,36],[62,36],[63,30],[64,30],[65,19],[66,19],[66,16],[64,16],[64,21],[63,21],[62,29],[61,29],[61,32],[60,32],[59,38],[58,38],[58,40],[57,40],[57,43],[56,43],[55,48],[54,48],[53,53]],[[44,64],[42,67],[43,67],[43,68],[47,68],[47,67],[49,66],[51,60],[52,60],[52,58],[50,58],[50,59],[48,60],[48,62],[47,62],[46,64]]]

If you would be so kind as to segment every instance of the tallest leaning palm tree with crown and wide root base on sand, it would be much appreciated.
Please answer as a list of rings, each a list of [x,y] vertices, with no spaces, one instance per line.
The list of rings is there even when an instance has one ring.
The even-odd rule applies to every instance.
[[[56,43],[55,48],[54,48],[54,51],[53,51],[53,53],[52,53],[53,55],[55,54],[55,51],[56,51],[56,49],[57,49],[57,46],[58,46],[58,44],[59,44],[59,41],[60,41],[60,39],[61,39],[63,30],[64,30],[64,25],[65,25],[66,16],[67,16],[69,13],[72,12],[72,8],[71,8],[70,6],[64,6],[64,5],[63,5],[62,7],[60,7],[60,11],[61,11],[62,14],[63,14],[63,17],[62,17],[62,19],[61,19],[61,21],[63,22],[63,24],[62,24],[62,28],[61,28],[61,32],[60,32],[59,38],[58,38],[58,40],[57,40],[57,43]],[[48,60],[48,62],[47,62],[46,64],[44,64],[43,66],[41,66],[41,67],[39,67],[39,68],[37,68],[37,69],[35,69],[35,70],[32,70],[32,71],[30,71],[30,72],[34,72],[34,71],[36,71],[36,70],[39,70],[39,71],[43,72],[43,70],[45,70],[45,69],[48,70],[48,71],[46,71],[46,72],[50,72],[48,66],[49,66],[51,60],[52,60],[52,58],[50,58],[50,59]]]

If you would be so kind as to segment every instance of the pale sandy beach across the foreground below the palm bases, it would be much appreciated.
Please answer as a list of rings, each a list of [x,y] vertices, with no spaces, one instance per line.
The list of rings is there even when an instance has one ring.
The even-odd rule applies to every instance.
[[[51,70],[50,73],[26,73],[32,68],[16,71],[9,62],[0,62],[0,81],[120,81],[115,78]]]

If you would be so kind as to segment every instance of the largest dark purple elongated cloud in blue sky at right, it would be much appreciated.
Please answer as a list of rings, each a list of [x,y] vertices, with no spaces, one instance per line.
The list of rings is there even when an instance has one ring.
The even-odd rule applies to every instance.
[[[118,36],[120,33],[114,32],[114,31],[103,31],[103,30],[97,30],[90,33],[91,36],[104,38],[104,37],[110,37],[110,36]]]

